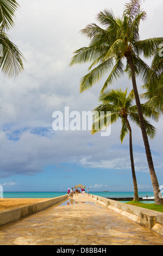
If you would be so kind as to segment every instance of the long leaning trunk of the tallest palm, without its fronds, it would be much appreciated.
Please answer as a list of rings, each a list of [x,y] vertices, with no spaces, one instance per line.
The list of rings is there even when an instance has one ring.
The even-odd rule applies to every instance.
[[[146,149],[146,156],[147,156],[147,161],[148,161],[148,166],[149,166],[149,172],[150,172],[150,175],[151,175],[151,180],[152,180],[152,185],[153,185],[155,204],[163,204],[163,199],[159,197],[159,192],[160,192],[159,182],[158,182],[155,170],[154,170],[151,149],[149,147],[146,128],[145,128],[145,124],[144,124],[144,121],[143,121],[141,103],[140,103],[139,94],[137,92],[137,86],[136,86],[135,68],[134,68],[133,58],[131,57],[131,52],[126,53],[126,58],[127,58],[127,62],[130,66],[131,73],[132,73],[132,82],[133,82],[135,101],[136,101],[137,112],[138,112],[138,115],[139,115],[139,120],[140,120],[140,125],[141,125],[141,132],[142,132],[143,142],[145,144],[145,149]]]

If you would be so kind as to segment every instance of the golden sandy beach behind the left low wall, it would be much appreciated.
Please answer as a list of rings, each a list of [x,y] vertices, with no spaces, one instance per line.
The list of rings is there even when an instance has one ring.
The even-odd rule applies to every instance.
[[[48,198],[0,198],[0,211],[8,208],[33,204],[48,200]]]

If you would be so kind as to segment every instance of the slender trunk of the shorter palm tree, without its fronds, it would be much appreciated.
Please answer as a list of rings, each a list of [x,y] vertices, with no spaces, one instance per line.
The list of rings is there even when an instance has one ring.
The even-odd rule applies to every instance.
[[[129,148],[130,148],[131,170],[132,170],[133,184],[134,184],[134,200],[139,201],[139,194],[138,194],[138,190],[137,190],[137,181],[136,181],[136,174],[135,174],[135,167],[134,167],[132,132],[131,132],[131,127],[130,127],[127,117],[124,117],[124,121],[129,130]]]

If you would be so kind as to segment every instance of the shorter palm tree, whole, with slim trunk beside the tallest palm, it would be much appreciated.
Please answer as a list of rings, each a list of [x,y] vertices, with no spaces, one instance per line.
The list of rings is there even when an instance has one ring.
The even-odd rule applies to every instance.
[[[131,91],[127,96],[127,90],[123,92],[121,89],[117,90],[105,90],[105,92],[99,97],[102,104],[94,109],[95,121],[92,125],[92,134],[97,132],[99,129],[115,123],[118,119],[122,120],[122,129],[120,134],[121,143],[124,137],[129,132],[129,150],[130,150],[130,162],[131,171],[133,176],[134,186],[134,200],[139,201],[139,194],[137,189],[137,180],[134,167],[134,156],[133,156],[133,142],[132,142],[132,131],[129,123],[129,119],[134,121],[140,126],[139,116],[137,114],[137,107],[133,105],[134,93]],[[153,117],[158,120],[159,113],[156,112],[151,106],[147,104],[142,105],[143,115],[146,117]],[[107,123],[107,115],[110,115],[110,124]],[[153,138],[155,135],[155,127],[149,123],[149,121],[143,117],[146,131],[149,137]],[[99,129],[98,129],[99,127]]]

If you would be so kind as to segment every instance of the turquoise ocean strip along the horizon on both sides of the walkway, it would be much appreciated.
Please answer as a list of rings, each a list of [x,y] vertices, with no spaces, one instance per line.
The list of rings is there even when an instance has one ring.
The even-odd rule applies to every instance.
[[[86,190],[87,192],[87,190]],[[54,198],[60,197],[67,192],[3,192],[3,198]],[[95,194],[100,197],[134,197],[134,192],[91,192],[90,194]],[[148,194],[148,198],[154,199],[153,192],[139,192],[139,197],[145,197]],[[124,203],[125,201],[123,201]],[[143,201],[143,203],[154,203],[153,201]]]

